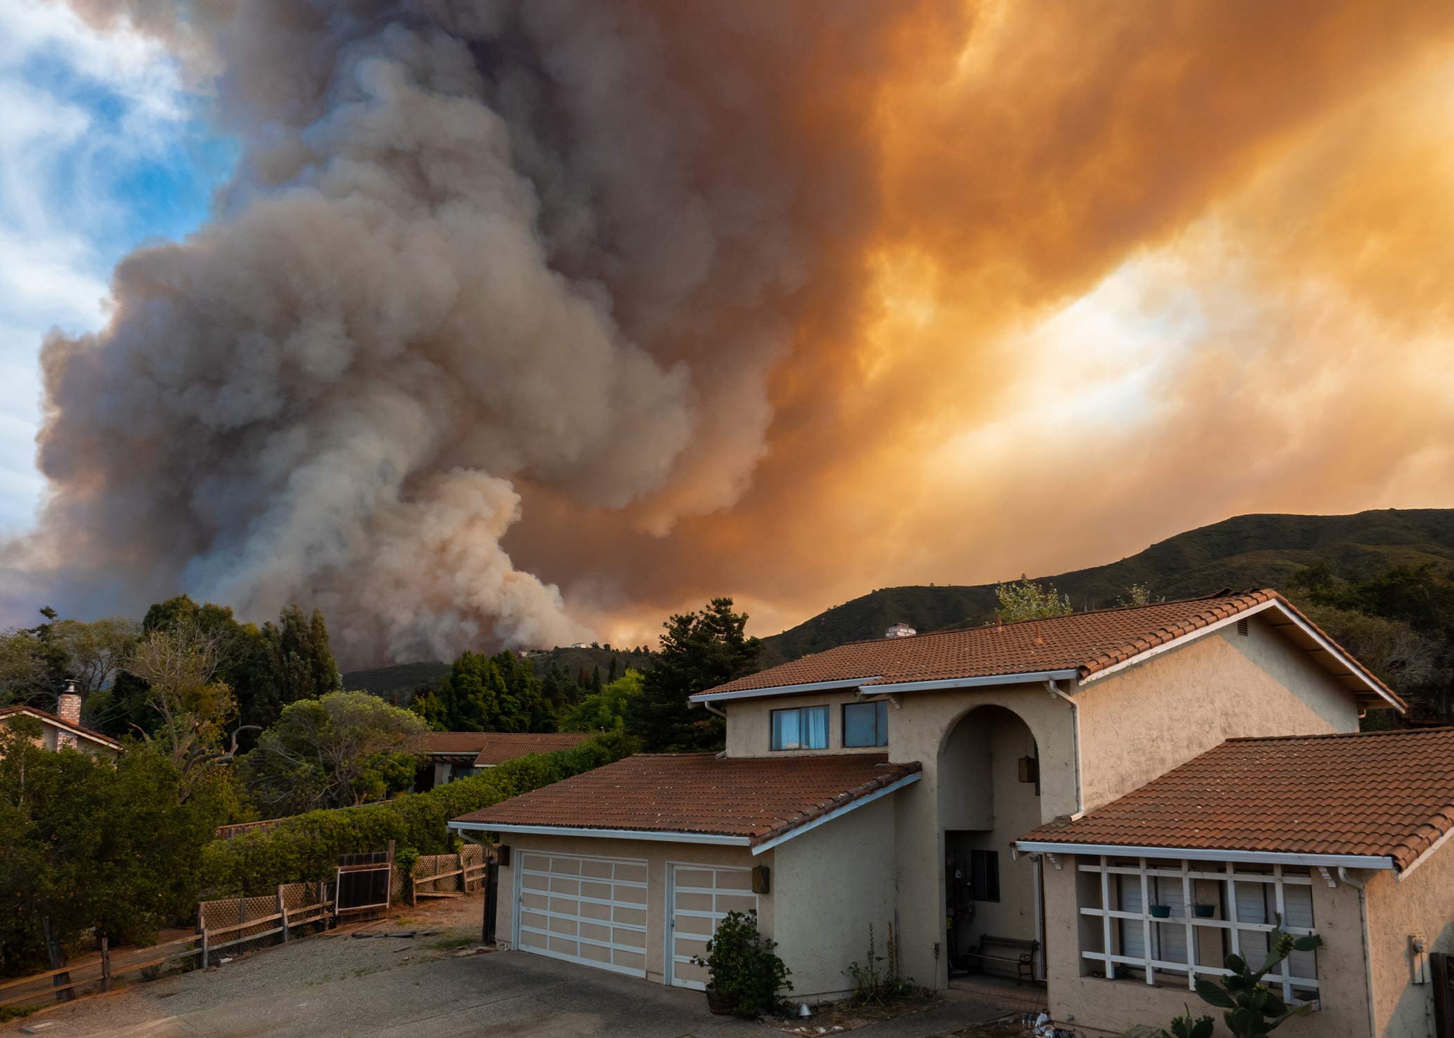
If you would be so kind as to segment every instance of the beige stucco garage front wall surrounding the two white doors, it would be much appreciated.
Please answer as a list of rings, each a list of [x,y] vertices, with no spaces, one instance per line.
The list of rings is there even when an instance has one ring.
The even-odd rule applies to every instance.
[[[502,842],[510,846],[510,865],[500,868],[499,910],[496,914],[496,933],[502,944],[513,946],[515,935],[515,872],[519,866],[522,852],[542,852],[555,855],[585,855],[589,858],[635,858],[647,864],[647,932],[646,932],[646,970],[647,980],[663,983],[663,962],[666,961],[666,864],[694,865],[736,865],[752,868],[753,865],[775,865],[774,850],[765,850],[753,858],[747,848],[724,848],[696,843],[664,843],[659,840],[612,840],[582,836],[535,836],[535,834],[502,834]],[[763,933],[774,932],[774,894],[763,894],[758,898],[758,925]]]

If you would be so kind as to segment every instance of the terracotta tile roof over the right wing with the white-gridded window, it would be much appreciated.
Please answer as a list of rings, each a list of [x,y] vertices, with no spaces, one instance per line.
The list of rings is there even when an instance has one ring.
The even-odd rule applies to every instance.
[[[1454,728],[1229,739],[1021,840],[1393,858],[1454,829]]]

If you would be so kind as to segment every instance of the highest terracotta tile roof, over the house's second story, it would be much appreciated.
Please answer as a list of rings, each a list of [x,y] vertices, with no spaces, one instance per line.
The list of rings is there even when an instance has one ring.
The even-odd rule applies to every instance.
[[[1362,704],[1405,708],[1403,701],[1387,685],[1274,590],[1093,609],[1069,616],[990,624],[909,638],[853,641],[718,685],[692,699],[711,701],[768,689],[811,691],[830,686],[891,692],[926,682],[948,686],[974,680],[989,683],[996,677],[1012,676],[1089,680],[1181,638],[1253,612],[1265,613],[1274,627],[1307,648],[1310,657],[1358,695]]]

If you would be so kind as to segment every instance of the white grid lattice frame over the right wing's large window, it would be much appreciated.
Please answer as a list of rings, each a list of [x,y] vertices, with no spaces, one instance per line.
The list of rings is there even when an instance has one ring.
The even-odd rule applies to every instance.
[[[1093,862],[1093,864],[1092,864]],[[1261,930],[1271,933],[1278,929],[1277,923],[1243,923],[1236,919],[1236,904],[1237,904],[1237,884],[1239,882],[1261,882],[1272,884],[1274,903],[1280,914],[1285,919],[1284,904],[1287,887],[1309,887],[1313,885],[1313,878],[1310,875],[1301,874],[1284,874],[1281,865],[1272,865],[1271,872],[1239,872],[1237,862],[1227,862],[1224,868],[1216,871],[1207,871],[1201,868],[1192,868],[1194,862],[1188,859],[1181,859],[1178,868],[1160,868],[1147,864],[1146,858],[1137,858],[1134,865],[1120,864],[1106,855],[1101,855],[1099,859],[1082,856],[1077,861],[1077,869],[1080,872],[1088,872],[1099,878],[1101,887],[1101,904],[1099,906],[1079,906],[1082,916],[1089,916],[1101,920],[1101,948],[1102,951],[1080,951],[1080,957],[1101,962],[1105,965],[1106,980],[1115,980],[1115,967],[1124,965],[1131,970],[1141,970],[1146,975],[1147,984],[1156,984],[1156,971],[1185,974],[1186,987],[1189,990],[1197,989],[1197,975],[1211,975],[1211,977],[1229,977],[1232,971],[1211,964],[1202,964],[1197,961],[1197,930],[1198,929],[1216,929],[1216,930],[1230,930],[1232,932],[1232,952],[1240,955],[1240,936],[1242,930]],[[1205,865],[1205,862],[1195,862],[1195,865]],[[1242,868],[1248,868],[1242,864]],[[1112,909],[1111,906],[1111,891],[1115,888],[1111,877],[1136,877],[1141,882],[1141,912],[1121,912],[1120,909]],[[1181,880],[1182,882],[1182,925],[1186,928],[1186,961],[1185,962],[1169,962],[1166,959],[1154,958],[1156,942],[1152,938],[1152,928],[1156,925],[1166,926],[1175,920],[1172,919],[1156,919],[1152,916],[1150,910],[1150,887],[1152,877],[1157,878],[1172,878]],[[1230,919],[1201,919],[1192,910],[1191,906],[1195,904],[1195,897],[1192,896],[1192,884],[1197,880],[1208,880],[1211,882],[1223,884],[1223,914],[1232,916]],[[1230,906],[1230,907],[1227,907]],[[1114,952],[1115,941],[1114,935],[1117,930],[1117,922],[1121,925],[1130,925],[1140,922],[1143,928],[1141,946],[1144,955],[1118,955]],[[1317,920],[1313,920],[1314,928]],[[1284,933],[1291,936],[1309,936],[1317,933],[1316,929],[1301,928],[1301,926],[1282,926]],[[1249,962],[1253,968],[1259,967],[1261,962]],[[1317,977],[1297,977],[1288,973],[1291,968],[1291,958],[1282,959],[1277,965],[1277,971],[1266,974],[1264,981],[1269,986],[1277,984],[1282,989],[1282,1002],[1290,1006],[1301,1005],[1303,1000],[1296,999],[1293,989],[1312,990],[1320,993]],[[1316,967],[1314,967],[1316,973]],[[1312,1000],[1313,1006],[1317,1006],[1317,999]]]

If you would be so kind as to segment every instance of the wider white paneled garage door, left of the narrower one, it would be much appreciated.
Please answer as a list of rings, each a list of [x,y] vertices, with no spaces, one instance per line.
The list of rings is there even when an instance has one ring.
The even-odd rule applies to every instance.
[[[646,862],[522,852],[515,946],[646,975]]]

